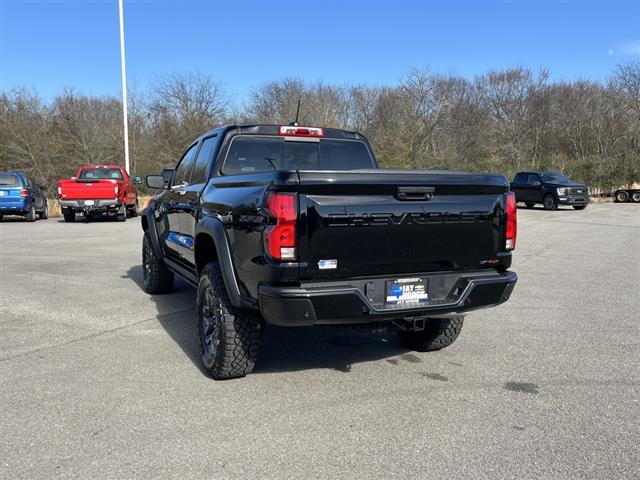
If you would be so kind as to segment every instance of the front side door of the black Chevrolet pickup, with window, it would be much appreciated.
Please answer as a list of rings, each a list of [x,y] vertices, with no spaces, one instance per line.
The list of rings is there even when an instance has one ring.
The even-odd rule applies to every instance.
[[[193,248],[193,239],[189,241],[182,235],[182,217],[186,209],[186,187],[189,185],[191,168],[196,158],[199,144],[192,145],[182,156],[171,179],[169,190],[165,193],[162,209],[167,222],[167,233],[164,238],[167,253],[180,259]]]

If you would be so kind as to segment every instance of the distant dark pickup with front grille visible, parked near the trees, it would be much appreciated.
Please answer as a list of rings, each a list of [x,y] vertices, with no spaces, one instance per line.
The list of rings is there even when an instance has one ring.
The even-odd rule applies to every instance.
[[[541,203],[545,210],[555,210],[558,205],[584,210],[589,204],[589,187],[562,173],[519,172],[511,182],[511,191],[516,201],[528,208]]]

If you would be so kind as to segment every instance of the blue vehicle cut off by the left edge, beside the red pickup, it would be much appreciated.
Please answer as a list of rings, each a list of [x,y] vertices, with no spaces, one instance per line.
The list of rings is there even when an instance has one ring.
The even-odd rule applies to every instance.
[[[4,215],[20,215],[27,222],[35,222],[36,215],[47,218],[47,197],[24,173],[0,172],[0,220]]]

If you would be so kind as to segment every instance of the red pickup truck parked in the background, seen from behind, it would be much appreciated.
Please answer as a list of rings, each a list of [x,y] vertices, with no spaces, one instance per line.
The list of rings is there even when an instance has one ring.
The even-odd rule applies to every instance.
[[[127,171],[120,165],[85,165],[75,177],[58,180],[58,200],[66,222],[76,214],[87,219],[115,215],[124,222],[138,215],[138,192]]]

